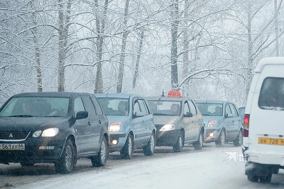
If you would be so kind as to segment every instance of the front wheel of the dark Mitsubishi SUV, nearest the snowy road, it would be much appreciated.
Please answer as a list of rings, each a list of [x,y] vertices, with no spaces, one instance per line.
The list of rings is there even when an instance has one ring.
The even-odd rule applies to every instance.
[[[74,146],[70,139],[67,139],[62,156],[58,162],[54,162],[57,173],[68,174],[72,171],[75,162]]]

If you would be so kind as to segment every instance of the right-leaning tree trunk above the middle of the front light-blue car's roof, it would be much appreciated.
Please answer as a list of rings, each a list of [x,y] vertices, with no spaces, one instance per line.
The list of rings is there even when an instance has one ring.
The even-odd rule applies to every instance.
[[[125,9],[124,9],[124,22],[123,26],[126,30],[127,27],[127,14],[128,14],[128,6],[129,6],[129,0],[126,0],[125,2]],[[121,44],[121,54],[120,54],[120,60],[119,60],[119,70],[118,70],[118,82],[117,82],[117,93],[122,92],[122,79],[123,79],[123,72],[124,72],[124,63],[125,63],[125,48],[126,48],[126,38],[127,38],[128,32],[125,31],[122,34],[122,44]]]

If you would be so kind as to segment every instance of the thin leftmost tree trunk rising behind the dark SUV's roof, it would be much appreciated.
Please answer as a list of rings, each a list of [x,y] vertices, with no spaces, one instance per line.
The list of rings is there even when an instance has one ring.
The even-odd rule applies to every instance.
[[[31,9],[33,10],[34,7],[34,1],[31,1]],[[34,43],[34,52],[35,52],[35,70],[36,70],[36,83],[37,83],[37,88],[38,92],[42,92],[42,78],[41,78],[41,62],[40,62],[40,53],[39,53],[39,46],[38,46],[38,41],[37,41],[37,22],[36,22],[36,16],[35,12],[32,12],[32,17],[33,17],[33,27],[32,27],[32,32],[33,32],[33,43]]]

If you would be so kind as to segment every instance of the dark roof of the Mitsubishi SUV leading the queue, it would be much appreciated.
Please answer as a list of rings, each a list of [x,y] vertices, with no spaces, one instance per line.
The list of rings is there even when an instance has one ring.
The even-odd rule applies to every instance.
[[[15,94],[13,97],[71,97],[71,95],[91,95],[85,92],[25,92]]]

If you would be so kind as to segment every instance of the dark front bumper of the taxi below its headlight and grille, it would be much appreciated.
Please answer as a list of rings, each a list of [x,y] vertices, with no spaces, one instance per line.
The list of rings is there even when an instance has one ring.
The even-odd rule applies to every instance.
[[[178,141],[179,129],[172,131],[157,131],[156,146],[173,146]]]

